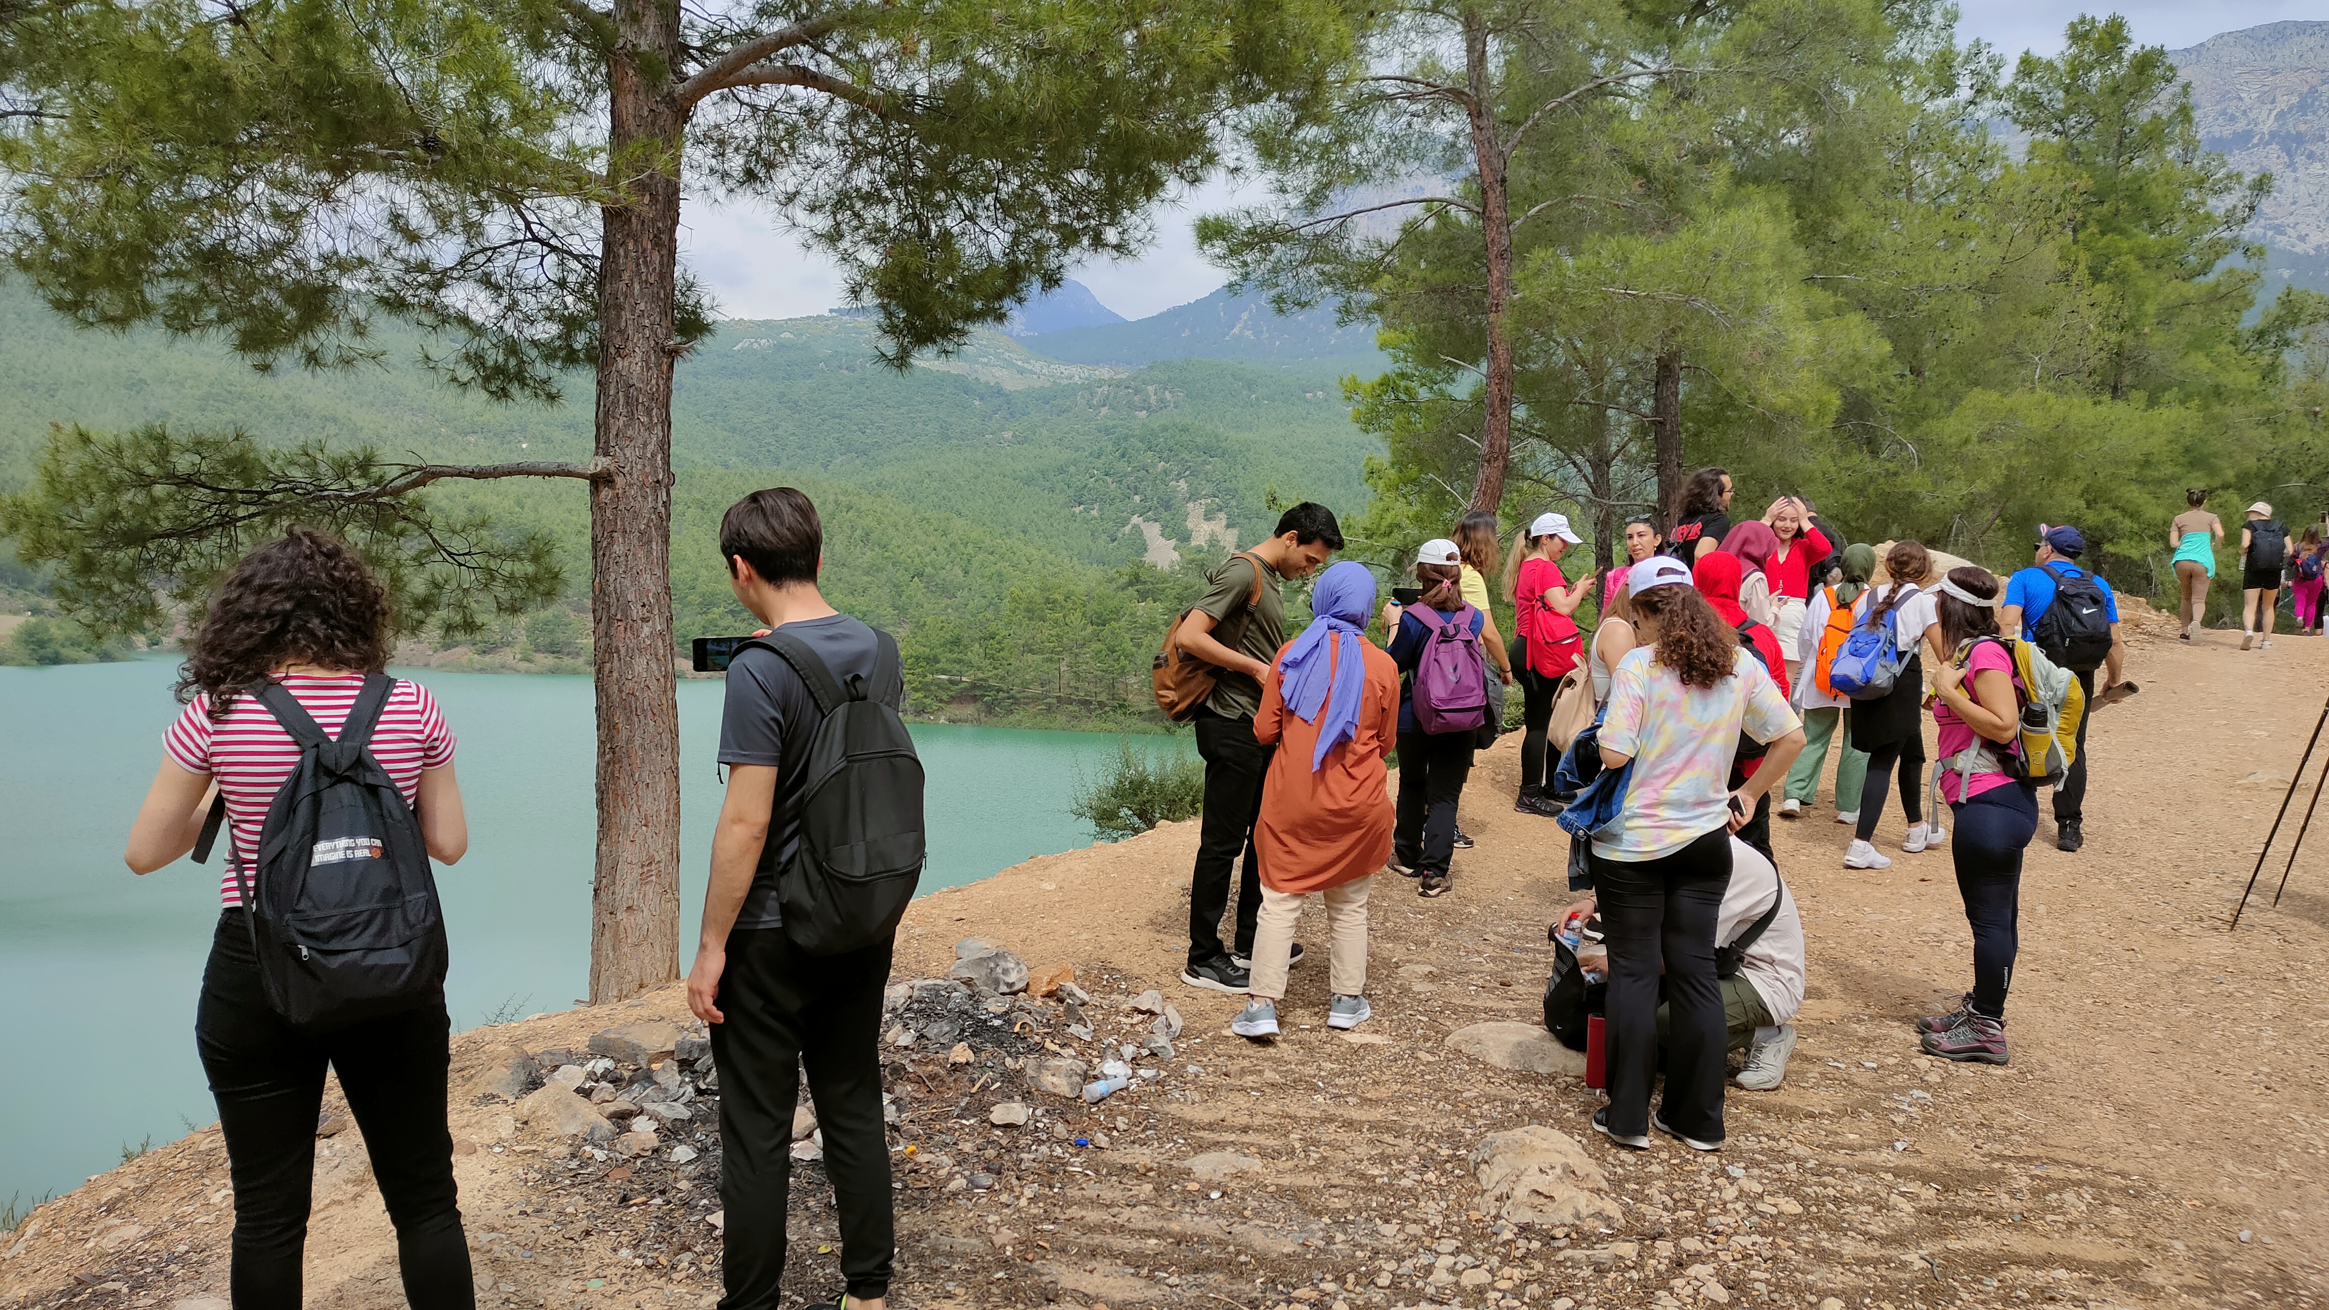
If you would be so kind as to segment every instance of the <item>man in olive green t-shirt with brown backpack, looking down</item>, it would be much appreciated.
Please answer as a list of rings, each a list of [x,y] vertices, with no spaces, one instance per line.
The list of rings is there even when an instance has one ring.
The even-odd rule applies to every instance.
[[[1262,678],[1286,643],[1286,604],[1279,583],[1307,578],[1342,550],[1335,510],[1302,501],[1279,517],[1279,531],[1255,545],[1267,573],[1253,597],[1253,559],[1232,555],[1206,573],[1206,594],[1181,625],[1181,648],[1220,669],[1213,695],[1197,706],[1197,755],[1204,758],[1204,820],[1197,867],[1188,886],[1188,967],[1181,981],[1209,991],[1244,993],[1253,958],[1253,921],[1262,909],[1262,876],[1253,855],[1253,820],[1262,811],[1262,774],[1269,748],[1253,739],[1253,716],[1262,709]],[[1234,636],[1223,643],[1216,632]],[[1246,858],[1237,886],[1234,953],[1220,942],[1220,916],[1230,907],[1230,872]],[[1295,946],[1295,958],[1300,958]]]

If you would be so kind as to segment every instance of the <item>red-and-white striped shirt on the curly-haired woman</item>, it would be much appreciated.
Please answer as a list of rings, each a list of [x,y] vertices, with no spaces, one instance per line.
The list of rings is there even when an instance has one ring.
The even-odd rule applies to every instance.
[[[314,725],[326,737],[338,737],[347,723],[347,711],[356,706],[363,690],[363,674],[284,674],[289,690]],[[452,730],[438,713],[436,697],[419,683],[398,678],[389,692],[389,704],[380,709],[380,725],[373,727],[373,758],[396,779],[405,802],[422,786],[422,769],[438,769],[452,762]],[[238,695],[224,723],[210,720],[210,697],[196,695],[186,713],[177,716],[163,734],[163,751],[191,774],[210,774],[226,795],[226,825],[233,851],[221,853],[219,904],[242,904],[242,888],[235,886],[235,862],[228,855],[254,860],[259,853],[259,830],[268,820],[275,793],[298,767],[298,741],[284,732],[259,697]],[[256,869],[252,869],[256,876]]]

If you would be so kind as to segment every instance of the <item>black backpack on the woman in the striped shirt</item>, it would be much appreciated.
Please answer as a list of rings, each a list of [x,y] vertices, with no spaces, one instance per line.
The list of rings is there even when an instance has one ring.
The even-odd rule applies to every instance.
[[[340,739],[282,683],[252,688],[298,744],[298,767],[259,830],[256,876],[233,851],[268,1005],[300,1033],[403,1014],[445,995],[445,909],[419,820],[368,751],[396,678],[366,674]],[[219,797],[193,858],[210,858]]]

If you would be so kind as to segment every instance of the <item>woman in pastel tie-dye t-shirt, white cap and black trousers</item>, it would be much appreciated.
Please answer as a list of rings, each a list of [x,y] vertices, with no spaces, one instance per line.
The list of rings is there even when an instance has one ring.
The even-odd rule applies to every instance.
[[[1723,1145],[1728,1040],[1714,928],[1730,886],[1730,832],[1786,776],[1803,751],[1803,725],[1682,562],[1644,559],[1626,583],[1642,643],[1619,660],[1600,725],[1602,765],[1633,765],[1633,779],[1591,851],[1609,942],[1609,1105],[1593,1114],[1593,1128],[1635,1149],[1649,1147],[1658,1128],[1712,1151]],[[1770,753],[1730,790],[1740,732],[1770,744]],[[1658,974],[1672,1035],[1665,1103],[1654,1117]]]

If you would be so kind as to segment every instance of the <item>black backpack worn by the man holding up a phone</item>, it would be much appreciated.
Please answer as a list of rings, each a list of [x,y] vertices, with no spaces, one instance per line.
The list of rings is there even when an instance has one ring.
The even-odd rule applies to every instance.
[[[838,956],[887,942],[922,881],[922,760],[892,699],[906,669],[897,641],[876,629],[873,669],[885,695],[834,671],[799,636],[748,641],[778,653],[824,713],[808,741],[801,788],[801,844],[776,872],[785,937],[810,956]],[[741,650],[741,646],[738,646]]]

